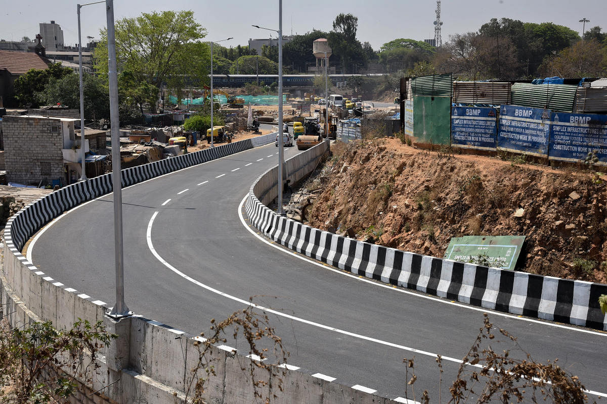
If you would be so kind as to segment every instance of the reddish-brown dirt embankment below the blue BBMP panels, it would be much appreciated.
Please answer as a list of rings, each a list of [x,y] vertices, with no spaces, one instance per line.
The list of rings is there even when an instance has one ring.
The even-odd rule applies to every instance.
[[[517,269],[606,282],[606,182],[520,159],[421,151],[398,139],[337,144],[309,223],[444,256],[451,237],[524,235]],[[607,177],[607,176],[603,176]]]

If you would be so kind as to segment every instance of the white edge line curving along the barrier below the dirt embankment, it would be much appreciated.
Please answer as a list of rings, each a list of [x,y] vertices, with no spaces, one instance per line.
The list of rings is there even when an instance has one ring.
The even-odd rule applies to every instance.
[[[258,239],[260,239],[262,242],[266,243],[267,245],[270,245],[273,248],[277,248],[278,250],[282,251],[285,254],[290,254],[293,257],[297,257],[301,260],[305,260],[314,265],[317,265],[318,267],[325,268],[326,270],[329,270],[329,271],[333,271],[334,273],[341,274],[341,275],[347,276],[347,277],[351,277],[352,279],[356,279],[359,282],[366,282],[366,283],[369,283],[370,285],[375,285],[380,288],[386,288],[386,289],[389,289],[389,290],[392,290],[392,291],[395,291],[398,293],[410,294],[411,296],[421,297],[422,299],[434,300],[435,302],[444,303],[447,305],[457,306],[457,307],[461,307],[461,308],[466,308],[468,310],[481,311],[483,313],[490,312],[492,314],[492,316],[508,317],[510,319],[527,321],[527,322],[531,322],[531,323],[538,323],[541,325],[546,325],[546,326],[551,326],[551,327],[556,327],[556,328],[565,328],[565,329],[569,329],[571,331],[577,331],[578,333],[586,333],[586,334],[592,334],[592,335],[596,335],[596,336],[607,337],[607,333],[601,333],[599,331],[591,331],[589,329],[583,329],[583,328],[574,328],[574,327],[563,325],[563,324],[549,323],[549,322],[544,322],[544,321],[540,321],[540,320],[529,319],[526,317],[517,317],[517,316],[514,316],[513,314],[502,313],[501,311],[492,311],[490,309],[486,309],[486,308],[482,308],[482,307],[468,306],[463,303],[450,302],[450,301],[440,299],[438,297],[427,296],[427,295],[421,294],[421,293],[415,293],[415,292],[412,292],[412,291],[409,291],[409,290],[406,290],[403,288],[393,288],[392,285],[384,285],[382,283],[373,282],[370,279],[359,278],[358,275],[354,276],[353,274],[345,273],[342,270],[336,270],[335,268],[332,268],[328,265],[323,265],[318,262],[315,262],[315,261],[311,260],[310,257],[308,257],[308,256],[302,256],[300,254],[295,254],[292,251],[287,250],[287,248],[283,248],[282,246],[273,244],[273,243],[269,242],[265,237],[257,234],[256,231],[253,230],[253,226],[249,227],[249,225],[246,224],[246,222],[245,222],[245,218],[242,216],[242,211],[240,210],[240,207],[242,207],[242,205],[245,202],[246,202],[246,195],[240,201],[240,205],[238,207],[238,215],[240,216],[240,222],[242,223],[242,225],[246,228],[246,230],[248,230],[251,234],[253,234],[253,236],[257,237]]]

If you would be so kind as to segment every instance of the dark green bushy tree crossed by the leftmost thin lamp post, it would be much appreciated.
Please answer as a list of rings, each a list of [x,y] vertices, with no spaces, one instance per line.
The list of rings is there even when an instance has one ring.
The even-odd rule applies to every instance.
[[[110,118],[109,91],[107,85],[98,76],[84,75],[84,118],[98,119]],[[80,109],[80,81],[78,75],[66,75],[61,79],[52,78],[49,84],[39,93],[36,99],[40,104],[61,104],[67,107]]]

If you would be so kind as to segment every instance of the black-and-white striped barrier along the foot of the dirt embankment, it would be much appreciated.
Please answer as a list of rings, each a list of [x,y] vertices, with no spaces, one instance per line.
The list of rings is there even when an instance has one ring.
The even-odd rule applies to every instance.
[[[310,149],[296,157],[308,156],[314,161],[317,154]],[[288,166],[289,162],[285,164]],[[603,283],[487,268],[321,231],[279,216],[266,207],[276,197],[273,188],[276,177],[274,167],[254,182],[246,199],[246,213],[254,227],[291,250],[353,274],[434,296],[505,313],[607,330],[607,316],[599,307],[599,296],[607,294],[607,285]]]

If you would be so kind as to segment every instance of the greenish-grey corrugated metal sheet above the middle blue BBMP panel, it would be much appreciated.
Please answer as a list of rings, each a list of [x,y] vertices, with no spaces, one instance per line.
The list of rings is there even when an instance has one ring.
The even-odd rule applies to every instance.
[[[512,85],[512,104],[571,113],[577,88],[577,85],[568,84],[515,83]]]

